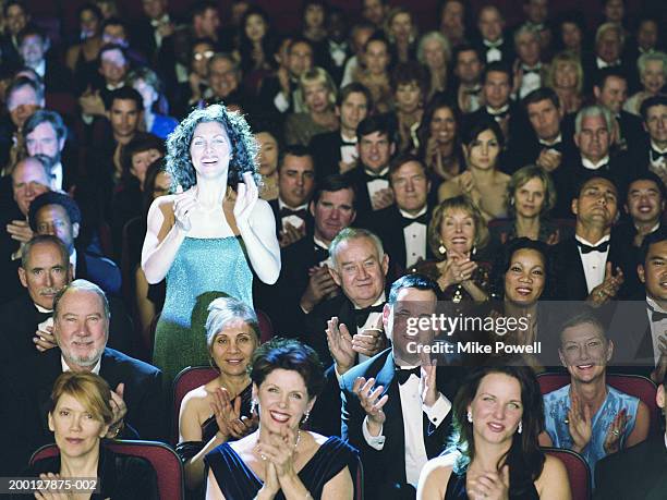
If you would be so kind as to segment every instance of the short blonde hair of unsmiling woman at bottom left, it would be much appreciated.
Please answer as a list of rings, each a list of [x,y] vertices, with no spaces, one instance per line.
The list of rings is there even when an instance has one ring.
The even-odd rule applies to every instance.
[[[107,381],[92,371],[64,371],[56,379],[51,391],[49,413],[53,413],[63,395],[78,401],[93,418],[105,425],[113,422],[111,389]]]

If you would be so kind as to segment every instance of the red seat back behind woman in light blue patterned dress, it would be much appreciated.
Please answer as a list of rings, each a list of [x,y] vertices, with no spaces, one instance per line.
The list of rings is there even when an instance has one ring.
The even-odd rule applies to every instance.
[[[569,374],[539,374],[537,376],[539,390],[543,394],[547,394],[556,389],[570,383]],[[648,406],[650,434],[659,432],[658,407],[655,402],[655,393],[657,387],[646,377],[640,375],[622,375],[607,374],[607,383],[614,389],[624,392],[626,394],[639,398],[646,406]]]

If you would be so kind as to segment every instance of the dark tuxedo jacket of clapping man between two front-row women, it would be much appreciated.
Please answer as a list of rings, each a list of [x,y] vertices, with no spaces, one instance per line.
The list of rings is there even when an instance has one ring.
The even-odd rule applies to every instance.
[[[405,479],[405,443],[403,414],[398,381],[395,378],[395,359],[390,349],[383,351],[371,359],[355,366],[342,376],[342,426],[341,437],[348,439],[350,444],[360,451],[364,464],[364,486],[366,498],[383,497],[386,485],[404,484]],[[352,392],[352,386],[357,377],[375,377],[375,386],[383,386],[384,394],[389,398],[384,406],[386,420],[383,427],[385,446],[381,451],[369,447],[362,434],[362,425],[366,413],[362,408],[359,398]],[[440,367],[437,371],[438,391],[447,399],[453,401],[456,393],[458,371],[454,368]],[[424,444],[429,459],[442,451],[451,423],[451,413],[434,425],[423,414]]]

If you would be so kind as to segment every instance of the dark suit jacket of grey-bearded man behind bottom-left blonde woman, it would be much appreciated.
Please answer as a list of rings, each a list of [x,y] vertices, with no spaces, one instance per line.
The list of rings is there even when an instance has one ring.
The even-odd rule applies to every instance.
[[[60,350],[41,356],[19,359],[2,367],[0,385],[0,432],[5,440],[5,466],[19,472],[40,446],[53,442],[47,425],[49,399],[53,382],[62,373]],[[128,405],[123,439],[163,440],[166,429],[162,373],[147,363],[112,349],[105,349],[99,371],[114,390],[124,383],[123,400]],[[15,450],[15,451],[14,451]],[[8,453],[9,454],[9,453]]]

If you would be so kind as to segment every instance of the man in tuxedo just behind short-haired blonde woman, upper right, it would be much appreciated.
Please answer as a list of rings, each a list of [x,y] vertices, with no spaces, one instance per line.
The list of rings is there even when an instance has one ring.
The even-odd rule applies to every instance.
[[[527,24],[520,26],[513,38],[517,51],[514,94],[517,99],[523,99],[543,86],[546,66],[542,64],[539,34],[534,27]]]

